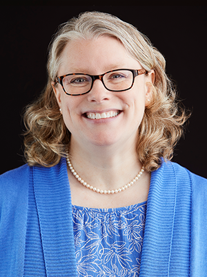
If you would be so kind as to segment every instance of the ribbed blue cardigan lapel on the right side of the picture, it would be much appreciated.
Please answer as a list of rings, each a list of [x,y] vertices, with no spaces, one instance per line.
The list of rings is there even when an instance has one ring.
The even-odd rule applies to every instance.
[[[140,277],[189,276],[190,200],[186,169],[163,162],[152,172]]]

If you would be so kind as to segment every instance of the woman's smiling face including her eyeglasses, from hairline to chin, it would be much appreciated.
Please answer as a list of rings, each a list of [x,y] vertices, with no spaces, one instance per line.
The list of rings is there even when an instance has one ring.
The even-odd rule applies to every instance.
[[[102,36],[68,43],[61,54],[58,75],[66,75],[59,77],[61,84],[53,86],[64,123],[72,134],[72,150],[77,143],[82,154],[86,149],[97,152],[97,146],[110,146],[110,152],[135,150],[153,71],[146,73],[119,40]]]

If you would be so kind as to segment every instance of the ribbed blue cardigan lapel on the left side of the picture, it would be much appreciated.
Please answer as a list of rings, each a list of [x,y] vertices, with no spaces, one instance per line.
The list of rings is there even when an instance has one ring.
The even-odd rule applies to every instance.
[[[52,168],[34,167],[34,195],[47,276],[77,276],[66,159]]]

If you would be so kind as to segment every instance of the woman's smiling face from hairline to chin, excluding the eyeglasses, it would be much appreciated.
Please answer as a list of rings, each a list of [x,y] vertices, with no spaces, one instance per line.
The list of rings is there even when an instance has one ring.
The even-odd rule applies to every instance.
[[[57,75],[101,75],[114,69],[141,69],[141,65],[113,37],[79,39],[67,44],[61,54]],[[138,127],[149,103],[149,82],[153,82],[153,77],[153,71],[138,75],[133,87],[121,92],[108,91],[101,80],[95,80],[91,91],[81,96],[68,96],[57,84],[55,95],[72,142],[86,148],[88,143],[119,147],[135,145]],[[112,117],[99,118],[101,114]]]

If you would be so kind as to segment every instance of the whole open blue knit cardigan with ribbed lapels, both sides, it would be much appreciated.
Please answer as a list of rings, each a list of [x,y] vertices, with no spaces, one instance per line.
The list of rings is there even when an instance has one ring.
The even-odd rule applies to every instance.
[[[35,209],[28,199],[34,199]],[[206,206],[206,179],[171,162],[152,172],[140,277],[206,276]],[[1,175],[1,277],[23,276],[30,218],[41,276],[77,276],[66,159],[52,168],[25,165]],[[31,271],[29,276],[40,275]]]

